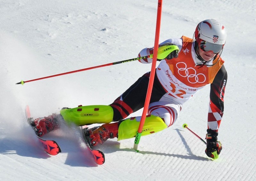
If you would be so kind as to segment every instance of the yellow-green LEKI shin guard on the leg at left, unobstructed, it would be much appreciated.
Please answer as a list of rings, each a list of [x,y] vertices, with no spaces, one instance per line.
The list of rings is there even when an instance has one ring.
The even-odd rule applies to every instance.
[[[71,109],[62,109],[60,114],[67,124],[77,126],[110,123],[113,120],[113,109],[110,105],[87,105]]]

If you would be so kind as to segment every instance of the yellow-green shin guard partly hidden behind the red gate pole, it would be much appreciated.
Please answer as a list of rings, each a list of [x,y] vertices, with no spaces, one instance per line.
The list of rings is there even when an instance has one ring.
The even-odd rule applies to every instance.
[[[118,141],[134,138],[138,131],[139,125],[140,122],[137,121],[136,118],[125,119],[123,122],[121,122],[118,128]],[[141,135],[145,136],[156,133],[164,130],[165,128],[167,128],[167,126],[160,117],[150,115],[146,117]]]

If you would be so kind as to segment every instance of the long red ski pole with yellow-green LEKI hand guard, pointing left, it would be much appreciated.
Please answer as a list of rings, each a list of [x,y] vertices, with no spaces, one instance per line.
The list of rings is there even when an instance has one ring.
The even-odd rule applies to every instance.
[[[168,54],[170,54],[174,50],[179,51],[179,48],[176,45],[165,45],[165,46],[159,47],[159,49],[160,49],[160,51],[158,51],[157,59],[160,59],[160,60],[164,59]],[[150,54],[150,55],[143,56],[143,57],[137,57],[137,58],[132,58],[132,59],[123,60],[123,61],[119,61],[119,62],[107,63],[107,64],[103,64],[103,65],[98,65],[98,66],[89,67],[89,68],[85,68],[85,69],[74,70],[74,71],[65,72],[65,73],[61,73],[61,74],[56,74],[56,75],[52,75],[52,76],[46,76],[46,77],[41,77],[41,78],[27,80],[27,81],[21,80],[20,82],[18,82],[16,84],[22,84],[23,85],[24,83],[27,83],[27,82],[47,79],[47,78],[56,77],[56,76],[63,76],[63,75],[66,75],[66,74],[72,74],[72,73],[81,72],[81,71],[85,71],[85,70],[91,70],[91,69],[96,69],[96,68],[100,68],[100,67],[106,67],[106,66],[110,66],[110,65],[132,62],[132,61],[135,61],[135,60],[140,60],[140,59],[144,59],[144,58],[152,58],[152,57],[153,57],[153,54]]]

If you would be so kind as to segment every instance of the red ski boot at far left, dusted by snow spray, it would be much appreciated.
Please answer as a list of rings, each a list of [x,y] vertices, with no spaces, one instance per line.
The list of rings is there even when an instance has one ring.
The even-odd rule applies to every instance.
[[[41,137],[59,127],[57,117],[58,115],[52,114],[48,117],[37,118],[34,120],[33,118],[28,118],[28,122],[34,128],[36,135]]]

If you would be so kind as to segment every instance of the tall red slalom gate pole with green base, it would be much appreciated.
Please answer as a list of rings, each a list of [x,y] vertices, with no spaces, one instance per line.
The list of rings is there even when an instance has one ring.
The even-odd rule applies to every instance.
[[[151,66],[151,72],[149,77],[149,83],[148,83],[148,91],[147,96],[142,112],[142,116],[140,119],[140,125],[137,131],[137,134],[135,136],[134,146],[133,148],[138,152],[138,144],[140,142],[140,137],[142,133],[142,128],[145,123],[146,115],[148,112],[148,106],[149,101],[152,93],[152,87],[154,83],[154,77],[155,77],[155,69],[156,69],[156,59],[157,59],[157,51],[158,51],[158,44],[159,44],[159,35],[160,35],[160,23],[161,23],[161,13],[162,13],[162,0],[158,0],[158,7],[157,7],[157,18],[156,18],[156,34],[155,34],[155,44],[154,44],[154,52],[153,52],[153,61]]]

